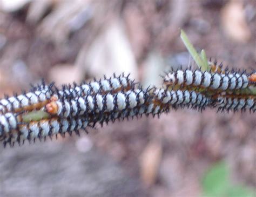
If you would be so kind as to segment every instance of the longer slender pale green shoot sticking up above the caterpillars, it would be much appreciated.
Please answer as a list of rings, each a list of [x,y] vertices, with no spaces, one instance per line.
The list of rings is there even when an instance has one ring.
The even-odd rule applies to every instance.
[[[190,55],[193,57],[194,61],[197,63],[200,69],[203,71],[209,70],[208,63],[207,65],[204,64],[204,61],[200,58],[196,49],[194,49],[194,46],[191,44],[190,40],[188,39],[186,33],[183,30],[181,30],[180,32],[180,38],[183,40],[183,43],[185,44],[188,52],[190,52]]]

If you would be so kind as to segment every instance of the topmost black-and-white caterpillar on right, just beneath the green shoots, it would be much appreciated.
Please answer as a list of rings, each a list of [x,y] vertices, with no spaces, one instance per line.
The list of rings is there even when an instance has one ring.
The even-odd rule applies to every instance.
[[[250,76],[243,73],[212,73],[202,72],[200,70],[177,70],[169,72],[164,77],[165,85],[181,85],[181,86],[202,86],[210,89],[220,90],[238,90],[245,89],[249,85]]]

